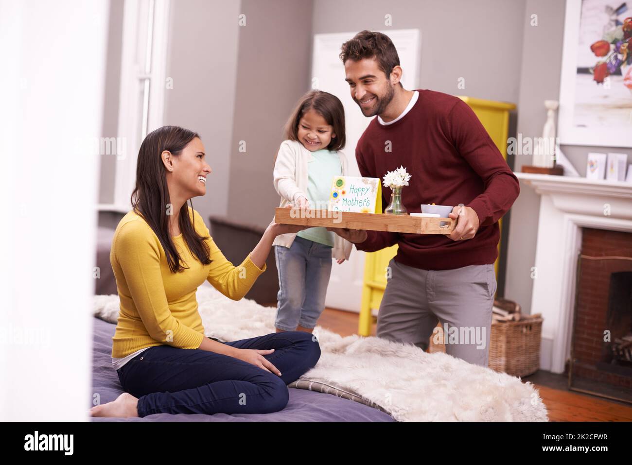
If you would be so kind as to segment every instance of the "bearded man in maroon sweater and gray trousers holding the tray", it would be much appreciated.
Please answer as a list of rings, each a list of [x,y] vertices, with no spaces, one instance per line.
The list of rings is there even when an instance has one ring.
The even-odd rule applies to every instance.
[[[364,30],[340,54],[351,98],[376,116],[358,141],[360,174],[382,178],[404,166],[408,212],[453,205],[453,233],[404,234],[331,229],[367,252],[398,244],[377,320],[377,336],[427,349],[437,319],[446,352],[487,366],[496,291],[498,220],[520,186],[476,114],[453,95],[405,90],[391,39]],[[387,205],[390,188],[384,188]]]

